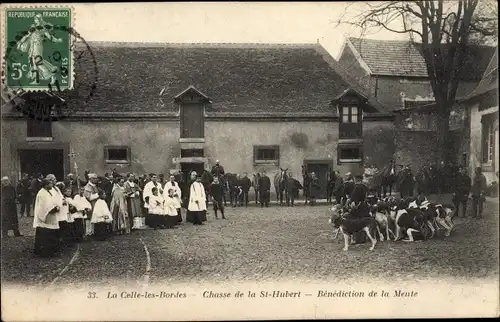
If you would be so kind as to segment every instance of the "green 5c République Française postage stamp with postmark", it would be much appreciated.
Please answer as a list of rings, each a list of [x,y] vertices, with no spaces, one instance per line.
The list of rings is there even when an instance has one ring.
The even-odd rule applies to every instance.
[[[5,8],[4,85],[12,90],[73,88],[70,8]]]

